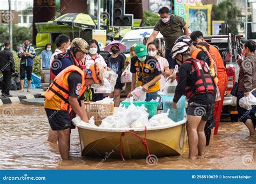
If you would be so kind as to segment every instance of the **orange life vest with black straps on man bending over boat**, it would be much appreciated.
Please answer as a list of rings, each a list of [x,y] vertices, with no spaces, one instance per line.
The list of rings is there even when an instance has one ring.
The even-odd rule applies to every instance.
[[[82,69],[75,65],[71,65],[62,72],[60,72],[53,82],[51,83],[50,87],[48,90],[46,90],[44,97],[47,100],[51,100],[53,97],[58,96],[62,101],[60,103],[60,110],[66,110],[71,112],[72,108],[71,105],[69,104],[69,86],[66,86],[68,84],[68,75],[71,72],[78,72],[81,77],[82,77],[82,84],[80,86],[80,91],[79,91],[79,96],[82,96],[85,89],[86,89],[86,84],[85,84],[85,75]],[[78,100],[79,104],[80,101]]]

